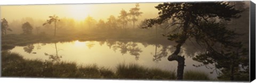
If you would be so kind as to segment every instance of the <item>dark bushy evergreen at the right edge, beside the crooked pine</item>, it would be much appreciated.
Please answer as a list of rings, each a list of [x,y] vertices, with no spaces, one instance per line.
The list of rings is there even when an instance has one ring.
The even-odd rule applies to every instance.
[[[200,66],[207,66],[208,64],[214,64],[214,67],[210,68],[218,73],[218,79],[220,80],[236,80],[236,81],[248,81],[249,80],[249,7],[244,2],[230,2],[235,5],[237,10],[243,10],[239,19],[231,21],[223,21],[227,24],[229,29],[236,30],[236,33],[242,33],[244,35],[237,36],[236,47],[225,48],[225,45],[221,46],[221,49],[214,51],[207,51],[193,58],[196,61],[202,62]],[[223,48],[224,47],[224,48]],[[211,72],[212,73],[212,72]]]

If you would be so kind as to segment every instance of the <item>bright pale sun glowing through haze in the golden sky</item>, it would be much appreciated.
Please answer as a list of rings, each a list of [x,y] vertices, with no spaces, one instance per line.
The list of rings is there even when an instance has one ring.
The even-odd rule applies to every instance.
[[[90,6],[86,4],[68,5],[68,13],[76,21],[83,21],[90,13]]]

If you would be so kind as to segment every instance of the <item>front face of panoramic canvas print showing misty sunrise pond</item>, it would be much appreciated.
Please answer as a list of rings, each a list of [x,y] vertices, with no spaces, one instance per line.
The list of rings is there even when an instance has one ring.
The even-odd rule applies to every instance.
[[[250,1],[0,7],[2,77],[250,80]]]

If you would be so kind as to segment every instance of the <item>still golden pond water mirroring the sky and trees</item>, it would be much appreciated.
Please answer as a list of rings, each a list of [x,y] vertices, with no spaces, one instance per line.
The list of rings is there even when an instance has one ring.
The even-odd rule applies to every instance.
[[[99,67],[115,69],[119,63],[137,63],[147,68],[160,68],[162,70],[177,70],[177,61],[168,61],[174,51],[173,45],[148,44],[141,42],[121,41],[73,41],[58,43],[36,43],[25,47],[15,47],[11,52],[17,52],[25,59],[49,60],[46,55],[58,55],[60,61],[76,62],[78,65],[97,64]],[[181,55],[188,55],[182,50]],[[192,57],[185,56],[185,72],[194,70],[205,72],[215,79],[217,74],[206,67],[194,67],[201,64]]]

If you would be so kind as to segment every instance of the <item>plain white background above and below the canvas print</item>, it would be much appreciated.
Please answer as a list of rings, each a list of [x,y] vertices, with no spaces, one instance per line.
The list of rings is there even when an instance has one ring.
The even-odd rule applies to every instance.
[[[122,1],[122,0],[94,0],[94,1],[82,1],[82,0],[1,0],[0,5],[23,5],[23,4],[76,4],[76,3],[136,3],[136,2],[191,2],[191,1],[220,1],[220,0],[129,0],[129,1]],[[237,0],[233,0],[237,1]],[[252,0],[254,3],[256,0]],[[188,82],[188,81],[147,81],[147,80],[95,80],[95,79],[43,79],[43,78],[0,78],[1,83],[4,82],[18,82],[18,83],[46,83],[46,82],[53,82],[53,83],[79,83],[79,82],[122,82],[122,83],[139,83],[139,82],[147,82],[147,83],[181,83],[181,82]],[[189,81],[189,82],[205,82],[205,81]],[[255,80],[253,81],[255,82]]]

